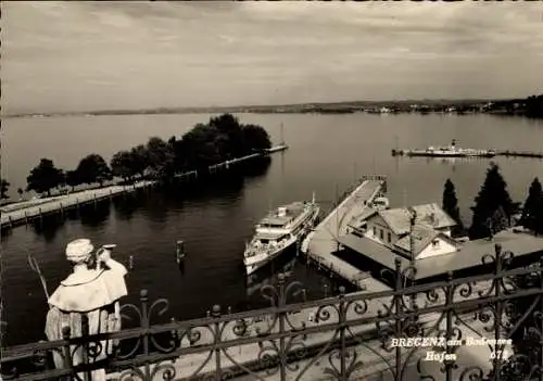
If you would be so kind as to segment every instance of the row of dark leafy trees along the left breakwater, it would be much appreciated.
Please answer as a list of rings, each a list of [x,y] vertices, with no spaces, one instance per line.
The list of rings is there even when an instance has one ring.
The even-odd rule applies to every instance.
[[[231,114],[211,117],[197,124],[179,139],[167,141],[151,137],[146,144],[116,152],[110,163],[98,154],[81,158],[75,169],[55,168],[52,161],[42,158],[27,177],[27,190],[51,194],[61,186],[72,190],[79,185],[100,187],[114,177],[124,181],[152,178],[168,182],[176,174],[206,169],[228,160],[263,152],[272,147],[267,131],[257,125],[244,125]]]

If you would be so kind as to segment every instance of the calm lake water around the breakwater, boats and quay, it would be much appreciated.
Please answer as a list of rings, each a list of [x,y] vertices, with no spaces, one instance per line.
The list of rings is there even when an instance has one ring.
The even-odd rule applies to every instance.
[[[21,227],[2,237],[2,302],[8,321],[8,344],[42,339],[47,305],[39,279],[26,263],[28,253],[39,262],[50,291],[70,271],[65,244],[87,237],[97,243],[117,243],[114,256],[134,268],[128,276],[128,302],[140,289],[150,299],[166,297],[168,316],[202,316],[213,304],[233,310],[261,306],[242,270],[242,251],[253,225],[270,205],[311,198],[325,208],[337,192],[363,174],[389,177],[392,206],[441,203],[443,183],[456,186],[463,218],[481,186],[488,158],[443,161],[392,157],[391,150],[449,144],[543,151],[543,120],[490,115],[308,115],[240,114],[243,123],[260,124],[280,140],[280,125],[290,149],[275,154],[262,174],[220,181],[205,191],[178,187],[143,193],[134,200],[101,204],[81,218],[51,223],[43,229]],[[143,143],[151,136],[179,137],[210,115],[134,115],[100,117],[18,118],[2,123],[2,178],[12,195],[24,188],[26,176],[41,157],[63,168],[99,153],[108,161],[122,149]],[[523,201],[533,177],[543,179],[543,161],[504,158],[501,166],[514,200]],[[174,261],[175,241],[186,242],[184,268]],[[321,296],[321,285],[338,281],[293,259],[293,278],[302,280],[310,297]],[[265,277],[264,277],[265,278]]]

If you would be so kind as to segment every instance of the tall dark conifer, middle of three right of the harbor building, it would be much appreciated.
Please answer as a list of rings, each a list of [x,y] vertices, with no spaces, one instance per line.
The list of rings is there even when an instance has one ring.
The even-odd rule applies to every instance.
[[[475,200],[475,206],[471,207],[473,218],[468,231],[471,240],[485,238],[492,233],[489,221],[492,220],[500,207],[503,209],[505,217],[510,220],[518,204],[512,201],[507,191],[507,183],[500,174],[498,166],[492,163]]]

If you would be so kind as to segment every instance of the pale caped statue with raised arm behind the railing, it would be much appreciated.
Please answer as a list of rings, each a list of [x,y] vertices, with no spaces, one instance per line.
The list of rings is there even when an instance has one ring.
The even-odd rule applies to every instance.
[[[71,338],[84,334],[114,332],[121,329],[118,300],[127,294],[124,276],[126,268],[111,258],[111,251],[100,247],[93,253],[90,240],[77,239],[66,246],[66,258],[73,263],[73,272],[64,279],[49,297],[46,335],[48,340],[61,340],[64,327],[70,327]],[[86,330],[87,332],[84,332]],[[112,353],[114,343],[102,341],[98,356],[80,346],[71,348],[73,365],[98,361]],[[75,351],[75,352],[74,352]],[[56,368],[64,368],[63,357],[53,353]],[[83,374],[78,374],[81,379]],[[105,380],[105,370],[96,370],[91,380]]]

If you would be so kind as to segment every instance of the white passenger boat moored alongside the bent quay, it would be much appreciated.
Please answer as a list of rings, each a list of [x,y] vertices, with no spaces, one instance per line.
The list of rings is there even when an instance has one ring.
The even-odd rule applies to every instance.
[[[320,207],[313,195],[312,201],[279,206],[261,219],[243,253],[247,274],[253,274],[296,242],[301,242],[314,228],[319,212]]]

